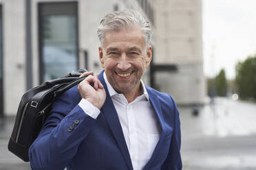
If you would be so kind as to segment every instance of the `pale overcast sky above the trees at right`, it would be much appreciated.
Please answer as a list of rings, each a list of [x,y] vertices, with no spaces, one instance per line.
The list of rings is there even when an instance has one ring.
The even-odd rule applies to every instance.
[[[255,0],[202,0],[204,74],[226,71],[235,78],[235,65],[256,54]]]

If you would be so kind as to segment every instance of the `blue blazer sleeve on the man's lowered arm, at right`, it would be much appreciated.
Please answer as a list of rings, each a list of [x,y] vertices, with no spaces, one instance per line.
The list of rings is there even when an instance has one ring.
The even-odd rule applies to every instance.
[[[170,96],[171,97],[171,96]],[[162,170],[180,170],[182,169],[182,159],[180,156],[180,146],[181,146],[181,132],[180,132],[180,117],[178,109],[175,105],[175,101],[171,97],[173,104],[173,135],[171,137],[171,144],[169,147],[169,152],[164,164],[162,165]]]

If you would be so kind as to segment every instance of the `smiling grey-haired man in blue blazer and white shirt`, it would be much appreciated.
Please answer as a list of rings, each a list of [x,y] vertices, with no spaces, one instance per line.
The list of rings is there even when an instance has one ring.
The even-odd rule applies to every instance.
[[[56,99],[29,151],[32,169],[182,169],[180,119],[170,95],[145,86],[149,22],[134,10],[100,22],[103,71]]]

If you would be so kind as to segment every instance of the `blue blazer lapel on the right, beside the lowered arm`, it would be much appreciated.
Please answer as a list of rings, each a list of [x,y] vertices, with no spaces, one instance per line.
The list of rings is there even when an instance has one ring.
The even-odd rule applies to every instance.
[[[159,141],[153,151],[151,158],[149,159],[149,161],[147,162],[147,164],[145,165],[145,167],[143,169],[149,169],[150,164],[153,162],[153,160],[156,159],[158,152],[161,151],[162,140],[163,140],[164,136],[166,136],[166,134],[167,134],[167,129],[164,125],[164,119],[162,116],[162,111],[160,109],[160,101],[158,99],[158,96],[156,94],[152,93],[152,91],[149,90],[149,88],[147,88],[147,86],[146,86],[146,89],[147,89],[147,93],[149,94],[150,104],[151,104],[153,110],[156,112],[156,116],[158,118],[158,121],[160,122],[162,132],[160,134]]]

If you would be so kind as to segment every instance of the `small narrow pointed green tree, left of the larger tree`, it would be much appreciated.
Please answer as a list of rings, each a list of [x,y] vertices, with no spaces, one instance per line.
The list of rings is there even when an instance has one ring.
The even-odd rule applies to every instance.
[[[218,96],[226,96],[227,82],[224,69],[221,69],[220,73],[215,77],[215,88]]]

